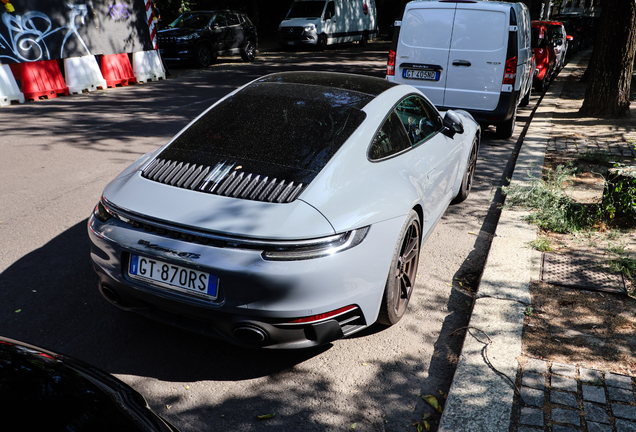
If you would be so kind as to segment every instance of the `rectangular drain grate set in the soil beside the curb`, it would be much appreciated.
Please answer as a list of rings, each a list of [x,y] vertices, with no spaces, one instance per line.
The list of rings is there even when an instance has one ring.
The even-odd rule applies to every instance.
[[[591,291],[626,293],[623,274],[604,269],[602,263],[585,254],[544,253],[541,281]]]

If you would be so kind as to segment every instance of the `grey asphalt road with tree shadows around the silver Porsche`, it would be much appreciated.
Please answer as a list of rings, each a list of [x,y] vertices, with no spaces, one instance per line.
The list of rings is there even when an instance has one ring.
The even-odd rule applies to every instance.
[[[448,392],[519,134],[484,132],[475,186],[421,254],[403,320],[320,349],[236,348],[119,311],[89,261],[87,217],[104,186],[214,101],[270,72],[383,76],[386,43],[221,59],[170,79],[0,109],[0,334],[73,355],[142,392],[182,431],[414,430]],[[275,414],[269,420],[256,416]],[[433,419],[435,416],[433,416]],[[433,430],[435,429],[434,422]]]

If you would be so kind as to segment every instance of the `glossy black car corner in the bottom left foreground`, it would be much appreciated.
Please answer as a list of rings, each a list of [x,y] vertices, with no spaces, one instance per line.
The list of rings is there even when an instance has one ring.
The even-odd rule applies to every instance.
[[[0,407],[6,431],[177,432],[114,376],[5,337],[0,337]]]

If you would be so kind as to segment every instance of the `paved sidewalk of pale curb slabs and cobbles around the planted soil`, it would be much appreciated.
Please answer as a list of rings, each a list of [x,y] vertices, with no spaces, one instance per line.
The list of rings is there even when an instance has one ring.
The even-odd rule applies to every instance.
[[[573,110],[582,103],[584,94],[570,91],[568,81],[582,73],[590,55],[572,58],[543,96],[511,183],[530,182],[529,173],[543,166],[546,152],[605,151],[636,158],[636,132],[625,136],[611,121],[576,124],[555,116],[559,107]],[[636,432],[633,377],[522,357],[530,283],[540,279],[541,270],[541,252],[527,245],[537,229],[523,220],[526,214],[518,209],[501,213],[438,430]],[[517,383],[524,406],[515,397]]]

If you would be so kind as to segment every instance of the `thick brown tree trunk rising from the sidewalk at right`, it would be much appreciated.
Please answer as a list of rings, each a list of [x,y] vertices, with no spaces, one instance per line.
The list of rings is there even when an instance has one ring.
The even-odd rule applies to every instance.
[[[604,0],[590,61],[585,100],[588,117],[629,115],[629,92],[636,51],[636,2]]]

